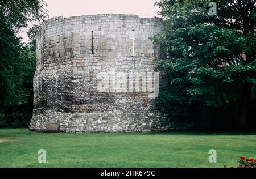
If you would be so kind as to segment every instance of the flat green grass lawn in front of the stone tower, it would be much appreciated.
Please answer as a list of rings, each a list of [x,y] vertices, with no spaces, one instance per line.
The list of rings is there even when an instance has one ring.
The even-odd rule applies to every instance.
[[[47,163],[38,163],[38,150]],[[217,163],[210,164],[210,149]],[[256,158],[255,134],[49,134],[0,129],[0,167],[236,167]]]

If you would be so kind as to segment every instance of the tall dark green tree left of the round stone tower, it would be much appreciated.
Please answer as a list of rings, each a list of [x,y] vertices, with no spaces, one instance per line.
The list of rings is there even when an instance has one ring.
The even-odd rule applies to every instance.
[[[18,32],[46,18],[45,6],[42,0],[0,0],[0,126],[10,126],[15,109],[28,104],[24,84],[31,60],[25,57]]]

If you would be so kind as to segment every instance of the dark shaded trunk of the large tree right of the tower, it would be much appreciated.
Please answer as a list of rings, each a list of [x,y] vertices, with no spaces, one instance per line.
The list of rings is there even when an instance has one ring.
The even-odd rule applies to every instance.
[[[251,99],[251,91],[252,91],[251,84],[246,83],[242,87],[240,116],[239,116],[239,121],[238,121],[238,127],[240,129],[245,129],[245,127],[246,127],[246,121],[247,121],[247,117],[248,117],[250,99]]]

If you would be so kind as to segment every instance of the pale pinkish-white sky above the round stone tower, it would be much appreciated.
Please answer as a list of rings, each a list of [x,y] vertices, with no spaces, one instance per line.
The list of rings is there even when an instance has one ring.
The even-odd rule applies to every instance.
[[[94,14],[134,14],[141,18],[159,16],[159,8],[154,6],[157,0],[44,0],[47,3],[49,18],[64,16],[65,18]],[[20,35],[27,42],[24,29]]]

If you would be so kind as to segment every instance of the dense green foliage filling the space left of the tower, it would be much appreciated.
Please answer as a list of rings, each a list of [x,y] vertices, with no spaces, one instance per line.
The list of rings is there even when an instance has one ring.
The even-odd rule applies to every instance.
[[[29,22],[46,17],[42,0],[0,1],[0,127],[26,127],[32,114],[35,31],[23,45],[17,33]]]

